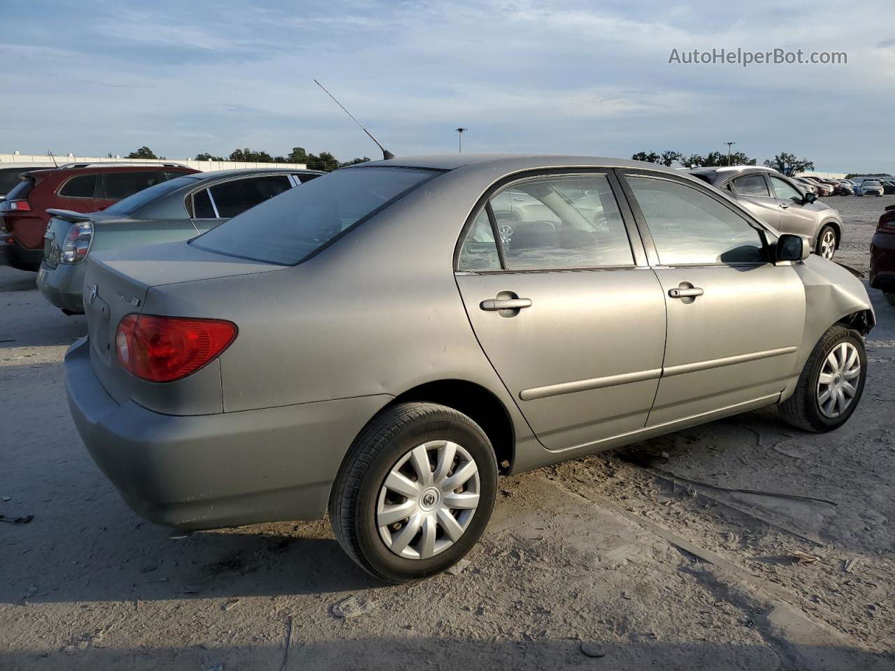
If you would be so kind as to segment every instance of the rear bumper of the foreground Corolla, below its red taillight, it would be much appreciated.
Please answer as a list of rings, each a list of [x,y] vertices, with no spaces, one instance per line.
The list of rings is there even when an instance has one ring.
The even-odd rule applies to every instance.
[[[65,353],[75,426],[134,512],[185,530],[314,520],[354,437],[388,395],[172,416],[109,396],[87,338]]]

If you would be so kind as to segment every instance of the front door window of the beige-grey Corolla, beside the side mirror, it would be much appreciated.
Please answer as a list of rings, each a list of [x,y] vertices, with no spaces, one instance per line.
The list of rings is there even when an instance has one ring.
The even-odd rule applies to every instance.
[[[664,266],[763,263],[761,235],[706,193],[681,183],[627,177]]]

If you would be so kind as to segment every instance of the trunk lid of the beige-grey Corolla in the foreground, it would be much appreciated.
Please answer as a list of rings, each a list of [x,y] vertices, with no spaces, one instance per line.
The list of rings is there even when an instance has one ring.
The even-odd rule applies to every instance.
[[[141,313],[150,288],[283,268],[199,250],[187,242],[101,251],[90,254],[86,263],[84,313],[90,338],[90,361],[100,383],[117,403],[131,398],[135,382],[153,384],[135,380],[118,362],[115,353],[118,323],[126,315]]]

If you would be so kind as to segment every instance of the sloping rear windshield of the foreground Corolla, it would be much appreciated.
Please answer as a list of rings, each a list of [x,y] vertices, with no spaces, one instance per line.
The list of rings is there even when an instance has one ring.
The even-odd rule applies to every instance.
[[[440,171],[345,168],[290,189],[190,244],[243,259],[294,266]]]

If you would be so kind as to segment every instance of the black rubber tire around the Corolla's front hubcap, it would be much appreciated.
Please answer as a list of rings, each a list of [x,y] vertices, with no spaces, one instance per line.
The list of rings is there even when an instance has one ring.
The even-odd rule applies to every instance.
[[[830,418],[821,412],[817,399],[817,382],[823,368],[823,361],[830,355],[830,352],[833,351],[836,345],[846,341],[854,344],[857,348],[858,357],[861,361],[861,373],[857,379],[857,391],[851,403],[839,417]],[[824,433],[833,429],[839,429],[840,426],[848,421],[848,418],[851,417],[858,403],[860,403],[861,395],[864,393],[866,378],[867,352],[865,350],[864,338],[854,329],[836,324],[828,328],[817,344],[814,345],[814,350],[808,357],[808,361],[805,361],[805,368],[802,369],[802,374],[798,378],[796,391],[778,406],[780,416],[789,424],[798,429],[805,429],[805,431]]]

